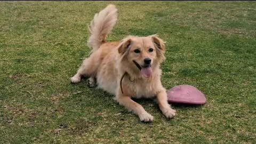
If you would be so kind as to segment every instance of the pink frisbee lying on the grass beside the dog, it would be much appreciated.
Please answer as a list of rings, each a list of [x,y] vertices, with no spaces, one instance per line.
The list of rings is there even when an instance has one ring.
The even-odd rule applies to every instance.
[[[167,91],[169,102],[203,105],[206,102],[205,95],[191,85],[177,85]]]

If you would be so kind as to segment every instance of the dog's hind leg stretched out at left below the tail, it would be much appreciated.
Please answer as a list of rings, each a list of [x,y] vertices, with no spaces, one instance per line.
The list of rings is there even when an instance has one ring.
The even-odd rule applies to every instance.
[[[92,53],[92,55],[89,58],[86,58],[83,63],[82,66],[78,69],[77,73],[70,78],[72,83],[78,83],[81,81],[81,77],[83,75],[92,77],[90,78],[93,79],[95,73],[97,72],[97,69],[99,67],[100,64],[100,57],[98,55],[99,53],[95,52]]]

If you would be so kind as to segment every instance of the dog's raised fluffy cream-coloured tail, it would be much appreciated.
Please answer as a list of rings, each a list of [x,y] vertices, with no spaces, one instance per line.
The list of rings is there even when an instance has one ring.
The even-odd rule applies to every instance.
[[[94,15],[89,27],[91,36],[88,40],[88,45],[92,47],[93,52],[106,42],[106,37],[115,26],[116,20],[117,9],[115,5],[111,4]]]

